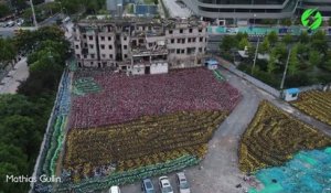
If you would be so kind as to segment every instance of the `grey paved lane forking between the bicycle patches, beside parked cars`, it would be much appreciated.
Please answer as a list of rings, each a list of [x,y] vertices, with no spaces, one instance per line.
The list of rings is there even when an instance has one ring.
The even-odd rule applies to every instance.
[[[221,61],[221,64],[229,65],[225,61]],[[239,193],[243,192],[243,189],[247,187],[247,184],[243,181],[244,175],[238,170],[237,147],[239,136],[248,127],[263,99],[268,99],[299,120],[313,125],[328,136],[331,136],[329,126],[303,115],[289,104],[282,103],[264,90],[256,88],[227,69],[222,69],[221,72],[232,86],[241,90],[243,99],[215,131],[213,139],[209,143],[209,153],[201,164],[185,170],[193,193]],[[170,174],[169,176],[172,180],[171,184],[174,186],[174,174]],[[156,178],[153,182],[158,190]],[[235,187],[239,183],[243,185],[243,189]],[[140,184],[126,185],[121,190],[125,193],[137,193],[140,191]]]

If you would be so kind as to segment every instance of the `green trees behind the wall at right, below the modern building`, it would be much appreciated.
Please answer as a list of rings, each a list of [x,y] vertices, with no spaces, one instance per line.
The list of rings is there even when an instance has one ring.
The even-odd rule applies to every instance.
[[[331,51],[329,51],[323,31],[317,31],[311,35],[307,32],[299,36],[287,34],[282,37],[279,37],[276,32],[270,32],[260,41],[257,53],[266,57],[265,60],[257,58],[253,74],[261,81],[279,88],[288,56],[287,86],[303,86],[331,81]],[[250,73],[256,45],[249,42],[247,34],[227,35],[220,45],[223,56],[227,58],[232,58],[233,53],[245,47],[248,58],[243,61],[239,68]]]

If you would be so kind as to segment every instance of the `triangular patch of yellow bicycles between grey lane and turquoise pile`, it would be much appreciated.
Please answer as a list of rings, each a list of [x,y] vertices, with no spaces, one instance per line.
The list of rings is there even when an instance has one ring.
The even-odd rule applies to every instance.
[[[331,146],[331,138],[264,100],[241,140],[241,171],[286,163],[300,150]]]

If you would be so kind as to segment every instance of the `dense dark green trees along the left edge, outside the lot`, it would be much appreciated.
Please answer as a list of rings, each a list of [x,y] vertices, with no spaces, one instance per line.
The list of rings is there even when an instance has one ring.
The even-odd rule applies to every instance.
[[[18,94],[0,95],[0,192],[26,192],[29,183],[7,183],[6,176],[32,174],[70,44],[56,26],[3,41],[28,54],[30,76]]]

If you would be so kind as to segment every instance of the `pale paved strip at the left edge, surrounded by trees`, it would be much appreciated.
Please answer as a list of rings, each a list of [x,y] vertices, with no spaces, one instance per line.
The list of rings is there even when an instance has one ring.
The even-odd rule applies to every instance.
[[[22,58],[14,66],[14,69],[9,72],[9,76],[4,77],[0,85],[0,94],[14,94],[17,93],[20,82],[29,77],[29,67],[26,64],[26,58]]]

